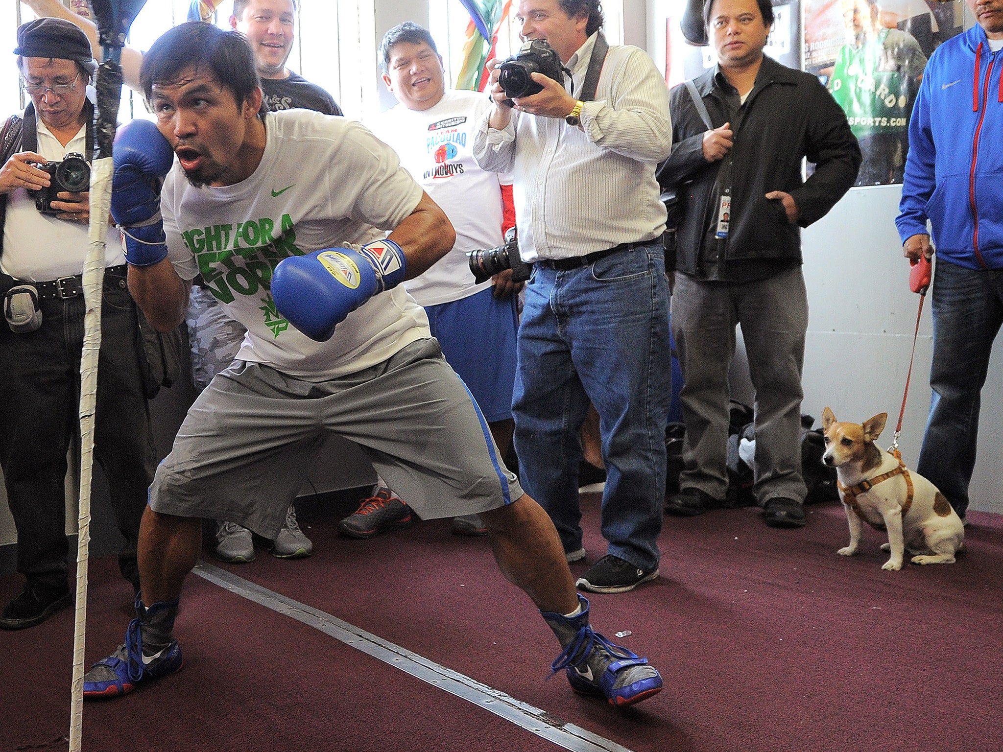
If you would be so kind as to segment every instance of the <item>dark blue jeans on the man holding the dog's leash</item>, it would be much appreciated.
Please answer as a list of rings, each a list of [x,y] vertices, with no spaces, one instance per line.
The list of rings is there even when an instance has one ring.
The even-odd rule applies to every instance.
[[[975,468],[979,394],[1003,324],[1003,270],[975,271],[938,260],[932,296],[933,397],[916,469],[964,516]]]

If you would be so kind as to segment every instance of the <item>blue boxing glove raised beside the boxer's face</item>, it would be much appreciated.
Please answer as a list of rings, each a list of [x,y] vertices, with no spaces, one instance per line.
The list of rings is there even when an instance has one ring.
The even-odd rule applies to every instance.
[[[175,151],[149,120],[132,120],[115,134],[111,217],[125,235],[125,261],[148,267],[168,255],[160,186]]]

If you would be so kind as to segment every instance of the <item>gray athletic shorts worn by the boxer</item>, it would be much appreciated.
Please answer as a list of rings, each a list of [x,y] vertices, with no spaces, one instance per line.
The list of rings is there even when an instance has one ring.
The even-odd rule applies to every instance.
[[[494,509],[523,495],[487,423],[434,339],[330,381],[234,361],[189,410],[149,488],[154,511],[229,519],[274,538],[326,432],[356,442],[418,516]]]

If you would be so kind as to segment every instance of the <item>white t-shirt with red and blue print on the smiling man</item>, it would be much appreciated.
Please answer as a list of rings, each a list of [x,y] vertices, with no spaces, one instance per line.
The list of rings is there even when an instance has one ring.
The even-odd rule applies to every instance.
[[[501,189],[511,178],[486,172],[473,158],[473,132],[490,100],[475,91],[446,91],[425,110],[403,104],[372,120],[373,132],[400,155],[400,163],[456,230],[456,244],[432,267],[404,283],[422,306],[450,303],[490,287],[475,285],[466,252],[500,246]]]

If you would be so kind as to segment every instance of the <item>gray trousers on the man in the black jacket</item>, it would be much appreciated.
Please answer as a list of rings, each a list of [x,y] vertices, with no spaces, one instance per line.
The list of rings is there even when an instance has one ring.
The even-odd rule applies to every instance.
[[[801,268],[759,282],[701,282],[677,274],[672,335],[679,352],[686,439],[680,488],[723,499],[728,487],[728,367],[742,328],[755,389],[753,493],[760,505],[802,501],[801,368],[808,305]]]

